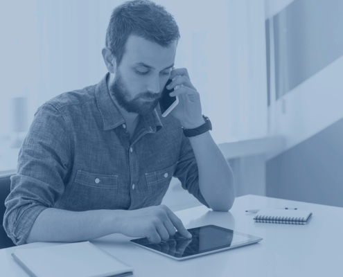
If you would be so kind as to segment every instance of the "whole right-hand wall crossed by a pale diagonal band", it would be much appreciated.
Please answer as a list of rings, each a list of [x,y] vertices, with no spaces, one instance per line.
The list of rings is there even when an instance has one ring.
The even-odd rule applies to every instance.
[[[270,26],[270,133],[285,152],[266,164],[267,195],[342,206],[343,2],[294,0]]]

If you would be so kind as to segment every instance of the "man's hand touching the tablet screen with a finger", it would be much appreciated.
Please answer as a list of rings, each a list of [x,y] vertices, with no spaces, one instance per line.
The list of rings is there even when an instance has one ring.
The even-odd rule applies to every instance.
[[[185,238],[192,238],[179,217],[167,206],[160,205],[125,211],[120,233],[134,238],[146,237],[152,243],[159,243],[175,235],[175,228]]]

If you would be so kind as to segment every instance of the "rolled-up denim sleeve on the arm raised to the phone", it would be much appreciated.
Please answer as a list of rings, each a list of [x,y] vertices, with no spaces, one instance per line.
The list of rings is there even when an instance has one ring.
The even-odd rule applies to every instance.
[[[174,172],[174,177],[181,181],[182,188],[188,190],[200,203],[209,208],[206,200],[202,196],[199,188],[199,172],[197,170],[197,161],[189,139],[182,133],[182,143],[179,153],[179,160]]]

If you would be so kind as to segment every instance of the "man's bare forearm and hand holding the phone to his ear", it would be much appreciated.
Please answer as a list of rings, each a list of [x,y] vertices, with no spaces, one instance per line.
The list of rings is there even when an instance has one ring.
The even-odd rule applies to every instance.
[[[174,88],[169,95],[179,96],[179,104],[171,114],[186,129],[204,124],[200,94],[191,83],[187,69],[173,69],[169,78],[173,81],[168,84],[167,89]],[[229,164],[209,132],[191,137],[189,141],[197,161],[202,197],[214,211],[228,211],[235,199],[234,177]],[[201,197],[198,196],[199,198]]]

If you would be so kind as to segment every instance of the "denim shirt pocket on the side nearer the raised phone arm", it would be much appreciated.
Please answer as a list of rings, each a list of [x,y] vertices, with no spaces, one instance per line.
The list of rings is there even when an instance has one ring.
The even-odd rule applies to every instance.
[[[177,163],[169,168],[146,173],[146,184],[148,186],[148,197],[144,206],[160,205],[168,190]]]

